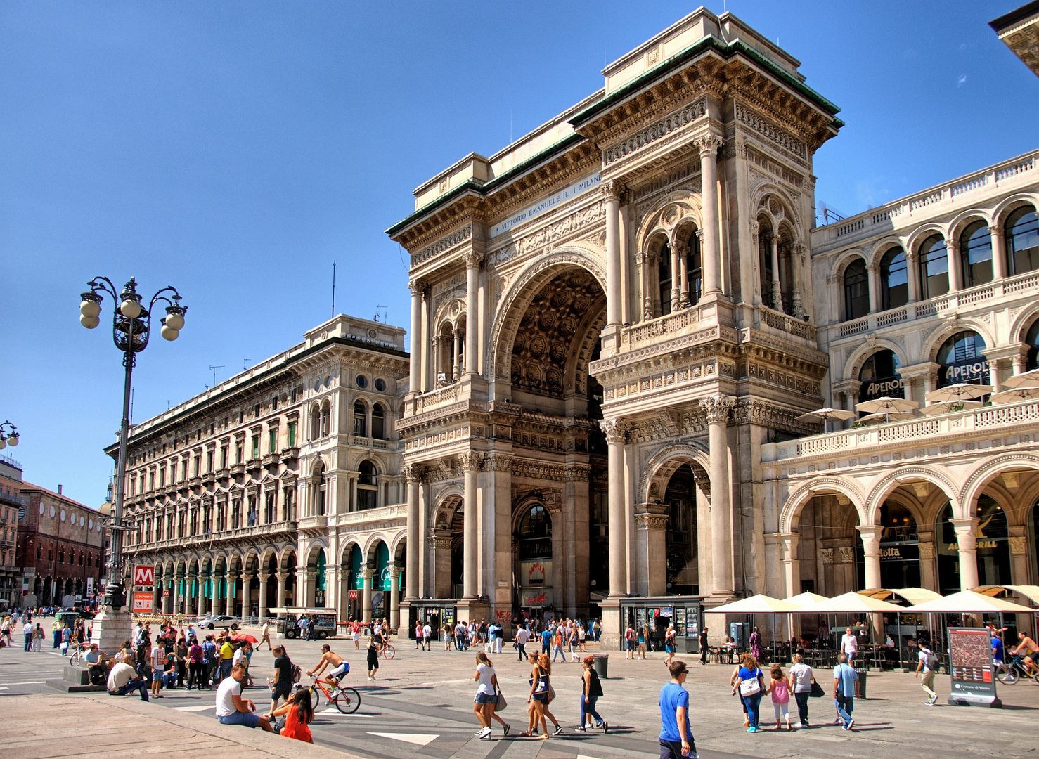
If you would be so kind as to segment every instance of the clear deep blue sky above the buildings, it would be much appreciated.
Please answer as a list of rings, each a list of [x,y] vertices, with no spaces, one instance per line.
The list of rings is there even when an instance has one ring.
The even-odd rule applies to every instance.
[[[802,61],[848,126],[817,197],[853,214],[1036,147],[1039,80],[987,22],[1018,4],[724,6]],[[0,4],[0,421],[27,480],[102,502],[119,356],[84,330],[95,275],[171,283],[180,341],[135,372],[134,418],[337,310],[407,326],[382,231],[410,191],[602,86],[681,2]],[[710,6],[723,10],[721,0]],[[111,304],[105,303],[105,314]]]

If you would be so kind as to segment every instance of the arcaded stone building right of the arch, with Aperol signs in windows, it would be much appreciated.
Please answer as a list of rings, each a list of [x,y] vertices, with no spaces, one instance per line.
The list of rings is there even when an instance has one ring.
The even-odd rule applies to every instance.
[[[1039,152],[814,229],[827,402],[1039,367],[1037,208]],[[1009,400],[763,445],[765,592],[1039,585],[1039,405]]]

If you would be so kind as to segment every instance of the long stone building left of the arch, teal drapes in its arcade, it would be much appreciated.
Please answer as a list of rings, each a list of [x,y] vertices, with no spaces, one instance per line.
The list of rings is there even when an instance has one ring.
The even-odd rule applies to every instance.
[[[340,315],[133,426],[126,552],[129,564],[155,566],[156,608],[396,617],[406,538],[395,427],[407,389],[403,336]]]

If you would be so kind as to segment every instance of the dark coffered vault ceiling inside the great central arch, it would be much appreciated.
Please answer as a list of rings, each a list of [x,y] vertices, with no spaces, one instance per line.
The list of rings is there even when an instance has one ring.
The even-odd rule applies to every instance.
[[[512,343],[516,388],[563,398],[587,392],[588,360],[606,324],[606,293],[590,273],[566,270],[527,305]]]

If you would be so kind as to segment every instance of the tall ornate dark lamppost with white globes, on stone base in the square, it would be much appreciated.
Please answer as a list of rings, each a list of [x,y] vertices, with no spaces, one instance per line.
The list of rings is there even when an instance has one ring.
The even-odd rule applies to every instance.
[[[181,294],[170,286],[156,293],[145,308],[141,305],[141,296],[137,293],[137,282],[133,277],[126,283],[122,293],[116,292],[115,286],[107,277],[95,277],[87,282],[87,286],[90,290],[82,294],[82,302],[79,304],[80,324],[87,329],[97,327],[101,323],[101,302],[104,300],[104,294],[111,296],[112,302],[118,304],[112,309],[112,341],[123,352],[123,367],[126,370],[123,385],[123,423],[119,426],[119,452],[115,469],[115,503],[109,524],[111,547],[108,557],[108,580],[102,602],[104,609],[98,618],[98,623],[95,624],[95,642],[105,650],[102,638],[110,638],[111,642],[117,644],[129,631],[129,615],[122,609],[127,604],[123,567],[123,535],[127,527],[123,526],[123,500],[126,493],[127,439],[130,437],[131,375],[137,361],[137,354],[148,347],[156,303],[166,304],[166,316],[161,320],[160,332],[167,341],[175,341],[180,335],[187,306],[181,305]],[[104,624],[106,619],[111,620],[107,626]],[[108,629],[105,629],[106,627]],[[121,629],[123,627],[126,629]],[[109,641],[106,640],[104,643],[107,644]]]

